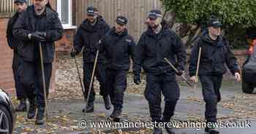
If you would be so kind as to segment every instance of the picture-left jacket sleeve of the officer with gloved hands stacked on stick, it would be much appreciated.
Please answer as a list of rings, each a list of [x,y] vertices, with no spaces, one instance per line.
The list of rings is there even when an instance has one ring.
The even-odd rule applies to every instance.
[[[16,20],[15,25],[13,26],[13,35],[15,38],[21,41],[29,41],[29,31],[26,29],[26,12],[22,12],[18,19]]]

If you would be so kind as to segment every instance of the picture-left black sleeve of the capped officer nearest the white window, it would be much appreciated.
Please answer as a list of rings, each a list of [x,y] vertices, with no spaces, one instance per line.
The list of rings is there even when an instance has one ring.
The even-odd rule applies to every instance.
[[[78,53],[83,49],[83,36],[80,28],[78,28],[77,33],[75,33],[73,45],[75,51]]]

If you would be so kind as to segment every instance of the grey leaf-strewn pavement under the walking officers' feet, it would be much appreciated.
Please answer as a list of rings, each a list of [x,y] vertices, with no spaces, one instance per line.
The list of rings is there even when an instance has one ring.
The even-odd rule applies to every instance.
[[[184,85],[184,84],[181,84]],[[143,89],[141,89],[143,90]],[[250,128],[218,128],[225,134],[255,134],[256,133],[256,96],[246,95],[241,91],[240,82],[223,82],[222,101],[218,104],[219,122],[249,122]],[[162,101],[162,106],[164,101]],[[83,134],[90,132],[113,133],[116,129],[102,128],[80,128],[78,124],[83,120],[87,122],[112,122],[109,118],[112,109],[107,111],[103,105],[102,98],[97,95],[94,102],[94,113],[84,114],[82,99],[51,100],[49,101],[49,120],[42,126],[35,126],[34,120],[26,119],[25,113],[18,114],[15,133],[75,133]],[[203,102],[200,85],[197,88],[181,86],[181,98],[176,106],[173,122],[203,122],[205,103]],[[150,122],[148,103],[143,94],[130,93],[124,96],[124,109],[122,121],[124,122]],[[121,129],[126,133],[140,133],[140,128],[130,127]],[[121,133],[119,131],[119,133]],[[144,130],[141,133],[151,133]],[[204,129],[177,128],[177,134],[203,134]]]

